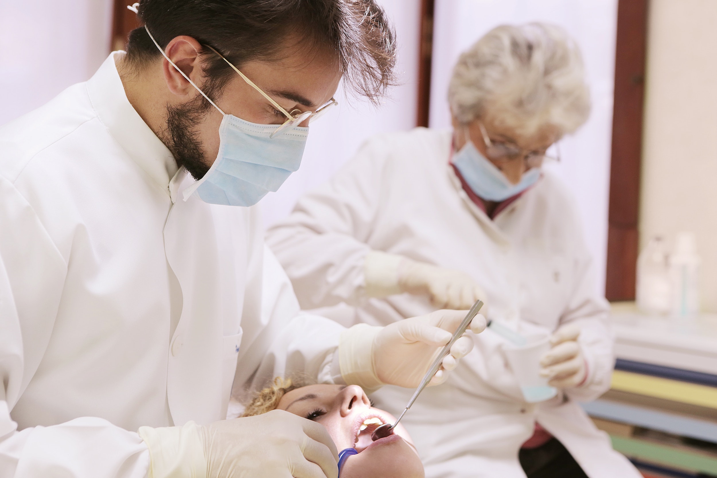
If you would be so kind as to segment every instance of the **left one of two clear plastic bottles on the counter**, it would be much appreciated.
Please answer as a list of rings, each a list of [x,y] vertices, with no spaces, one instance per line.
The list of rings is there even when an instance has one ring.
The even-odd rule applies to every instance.
[[[637,308],[650,315],[667,315],[671,307],[670,262],[661,236],[650,239],[637,258]]]

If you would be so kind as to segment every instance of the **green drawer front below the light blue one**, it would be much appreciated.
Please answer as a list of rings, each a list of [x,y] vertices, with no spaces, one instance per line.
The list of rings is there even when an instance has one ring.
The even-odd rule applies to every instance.
[[[612,447],[627,457],[657,462],[694,472],[717,474],[717,458],[706,457],[690,451],[674,449],[649,441],[610,435]]]

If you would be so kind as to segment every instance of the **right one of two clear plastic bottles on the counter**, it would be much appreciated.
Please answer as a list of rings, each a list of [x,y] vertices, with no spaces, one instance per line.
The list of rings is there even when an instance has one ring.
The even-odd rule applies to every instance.
[[[694,317],[700,312],[700,262],[695,234],[680,232],[670,255],[673,317]]]

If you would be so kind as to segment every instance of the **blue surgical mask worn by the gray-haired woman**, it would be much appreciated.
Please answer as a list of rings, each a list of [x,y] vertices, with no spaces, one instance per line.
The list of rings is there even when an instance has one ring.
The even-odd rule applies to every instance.
[[[533,186],[541,176],[538,168],[531,168],[518,184],[511,184],[495,164],[486,159],[468,140],[453,156],[453,165],[460,171],[471,190],[487,201],[505,201]]]

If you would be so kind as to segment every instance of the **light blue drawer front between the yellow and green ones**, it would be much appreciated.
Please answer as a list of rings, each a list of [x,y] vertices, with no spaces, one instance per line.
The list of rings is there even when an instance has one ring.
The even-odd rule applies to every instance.
[[[607,400],[581,403],[590,416],[717,443],[717,424]]]

